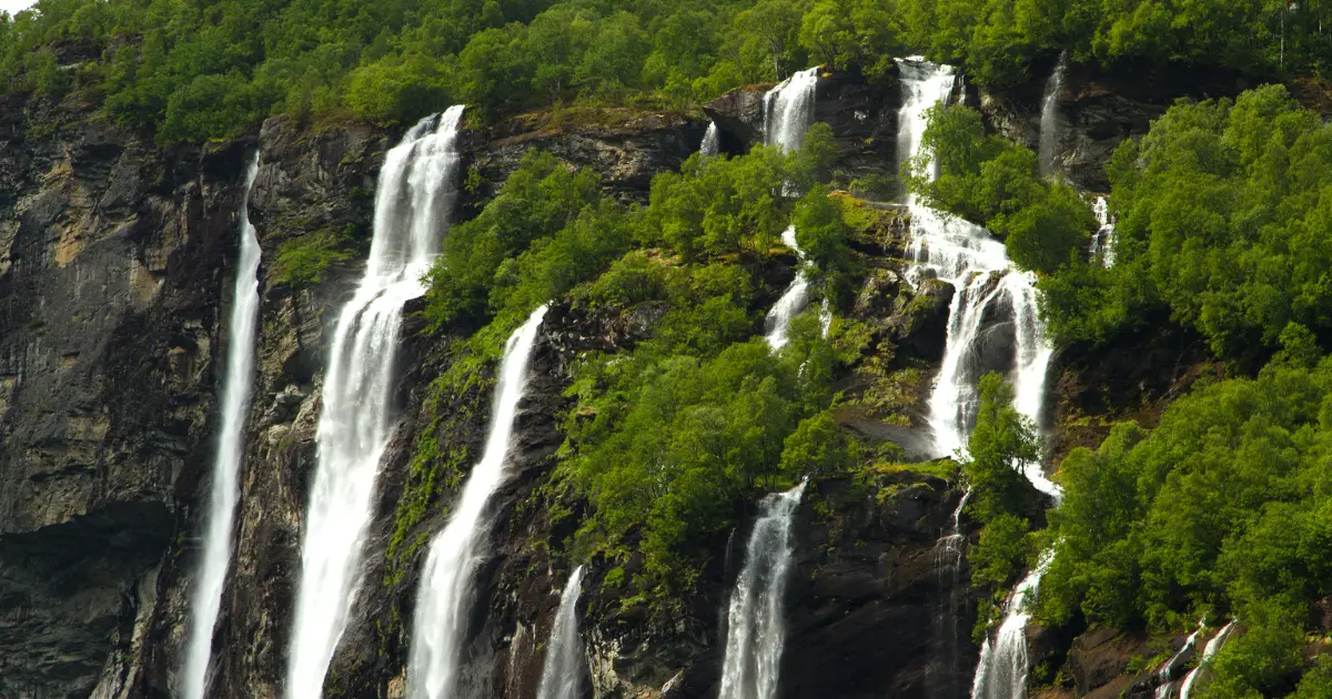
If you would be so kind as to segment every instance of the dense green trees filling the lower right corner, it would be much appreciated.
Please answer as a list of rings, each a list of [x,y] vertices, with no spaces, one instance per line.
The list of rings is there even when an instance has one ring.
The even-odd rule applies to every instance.
[[[1332,592],[1332,361],[1195,390],[1147,433],[1114,429],[1062,466],[1039,615],[1123,628],[1235,616],[1211,696],[1295,688],[1313,602]],[[1327,687],[1325,672],[1309,676]]]

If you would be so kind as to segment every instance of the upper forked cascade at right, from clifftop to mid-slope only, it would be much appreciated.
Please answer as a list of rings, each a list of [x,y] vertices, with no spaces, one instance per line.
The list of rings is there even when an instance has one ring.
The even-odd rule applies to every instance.
[[[926,112],[948,99],[956,75],[948,65],[899,59],[902,109],[898,113],[898,149],[903,158],[920,153]],[[1036,313],[1035,276],[1011,269],[1007,252],[984,228],[939,213],[907,196],[911,210],[912,282],[935,277],[956,292],[948,309],[947,344],[939,375],[930,393],[930,427],[940,455],[966,453],[975,422],[978,383],[995,363],[990,344],[999,330],[1011,338],[1011,362],[1004,369],[1014,385],[1014,407],[1039,425],[1046,397],[1046,373],[1054,353]],[[987,324],[1007,314],[1011,329]],[[1059,497],[1059,487],[1039,463],[1023,465],[1036,489]]]

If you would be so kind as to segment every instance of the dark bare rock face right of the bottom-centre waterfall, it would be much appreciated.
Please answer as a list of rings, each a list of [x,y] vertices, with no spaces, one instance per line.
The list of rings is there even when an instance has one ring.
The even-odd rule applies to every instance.
[[[910,471],[871,487],[825,481],[806,495],[781,696],[967,695],[976,599],[939,543],[960,497]]]

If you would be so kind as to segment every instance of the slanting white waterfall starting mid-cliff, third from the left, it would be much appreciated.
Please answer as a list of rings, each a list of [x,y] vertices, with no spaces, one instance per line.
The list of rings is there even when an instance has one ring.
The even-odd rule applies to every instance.
[[[488,554],[485,535],[490,521],[486,505],[509,477],[505,466],[514,418],[527,385],[527,362],[537,342],[537,330],[545,316],[546,306],[538,308],[509,336],[496,382],[485,451],[468,475],[449,523],[430,542],[412,623],[408,696],[413,699],[465,695],[461,691],[462,654],[477,600],[473,578]]]

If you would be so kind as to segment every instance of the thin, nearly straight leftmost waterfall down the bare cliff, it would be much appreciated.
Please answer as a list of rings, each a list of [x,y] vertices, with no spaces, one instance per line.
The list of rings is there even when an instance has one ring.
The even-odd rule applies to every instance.
[[[254,336],[258,321],[258,236],[249,222],[249,193],[258,174],[258,153],[245,174],[241,197],[241,245],[236,264],[236,297],[226,329],[226,374],[222,378],[222,429],[213,458],[213,483],[204,515],[204,555],[189,610],[189,640],[181,667],[181,696],[204,699],[213,627],[222,602],[222,584],[232,561],[232,530],[240,499],[241,461],[245,457],[245,417],[254,387]]]

